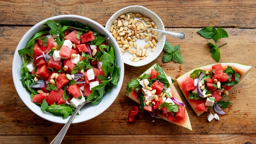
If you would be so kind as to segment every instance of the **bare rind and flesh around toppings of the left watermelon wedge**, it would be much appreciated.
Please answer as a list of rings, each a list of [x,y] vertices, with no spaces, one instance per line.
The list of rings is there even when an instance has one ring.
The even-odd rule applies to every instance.
[[[153,69],[153,68],[156,66],[156,64],[157,64],[157,63],[155,63],[154,65],[152,65],[150,68],[148,68],[144,73],[142,73],[141,76],[143,76],[145,73],[150,74],[150,73],[151,73],[151,69]],[[165,74],[165,75],[166,75],[166,74]],[[167,76],[167,75],[166,75],[166,76]],[[179,101],[182,102],[182,99],[181,99],[180,95],[178,94],[178,91],[176,90],[174,84],[171,83],[169,87],[170,87],[171,90],[172,90],[172,96],[173,96],[175,99],[177,99],[177,100],[179,100]],[[134,91],[134,89],[129,93],[128,97],[129,97],[130,99],[133,99],[133,101],[135,101],[136,103],[140,104],[140,101],[139,101],[139,99],[138,99],[138,95],[137,95],[137,93]],[[192,130],[192,126],[191,126],[191,123],[190,123],[190,120],[189,120],[189,117],[188,117],[188,114],[187,114],[187,110],[185,110],[185,112],[186,112],[186,117],[185,117],[183,120],[181,120],[181,121],[174,121],[174,122],[173,122],[173,121],[169,121],[168,118],[166,117],[166,115],[163,115],[163,114],[161,114],[160,112],[157,113],[157,116],[160,117],[160,118],[162,118],[162,119],[164,119],[164,120],[166,120],[166,121],[169,121],[169,122],[171,122],[171,123],[174,123],[174,124],[176,124],[176,125],[178,125],[178,126],[183,126],[183,127],[187,128],[187,129],[189,129],[189,130]]]

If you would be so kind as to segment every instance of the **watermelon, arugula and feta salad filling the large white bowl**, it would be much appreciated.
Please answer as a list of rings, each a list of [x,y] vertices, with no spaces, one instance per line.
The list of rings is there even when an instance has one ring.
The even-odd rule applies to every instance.
[[[100,103],[117,85],[120,68],[107,37],[88,25],[68,20],[48,20],[45,25],[18,50],[21,82],[42,111],[64,119],[84,101]]]

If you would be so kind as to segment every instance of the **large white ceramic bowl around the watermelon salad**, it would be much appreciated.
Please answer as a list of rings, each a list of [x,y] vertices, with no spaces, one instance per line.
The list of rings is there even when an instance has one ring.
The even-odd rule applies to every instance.
[[[109,36],[109,43],[112,44],[114,47],[114,53],[115,58],[117,61],[117,66],[120,67],[120,79],[118,81],[118,85],[115,85],[110,93],[107,93],[103,96],[101,103],[98,105],[92,105],[91,103],[86,104],[80,111],[82,112],[80,115],[76,116],[73,120],[73,123],[78,123],[82,121],[90,120],[98,115],[100,115],[102,112],[104,112],[107,108],[110,107],[110,105],[114,102],[116,97],[119,94],[119,91],[121,89],[122,83],[123,83],[123,74],[124,74],[124,66],[123,66],[123,58],[122,54],[120,53],[119,46],[117,42],[114,40],[114,37],[111,36],[111,34],[105,29],[105,27],[101,26],[99,23],[96,23],[95,21],[85,18],[82,16],[77,15],[59,15],[51,18],[47,18],[39,23],[37,23],[35,26],[33,26],[30,30],[27,31],[27,33],[22,37],[20,42],[18,43],[17,49],[15,50],[14,59],[13,59],[13,67],[12,67],[12,73],[13,73],[13,80],[15,88],[18,92],[19,97],[22,99],[23,103],[26,104],[26,106],[32,110],[32,112],[36,113],[38,116],[52,121],[56,123],[66,123],[69,119],[62,119],[62,117],[54,116],[50,113],[42,112],[41,108],[37,106],[35,103],[31,102],[30,93],[23,88],[23,85],[20,81],[21,79],[21,65],[22,65],[22,58],[18,54],[19,49],[23,49],[26,47],[28,41],[32,38],[32,36],[38,32],[41,31],[46,26],[43,26],[43,23],[46,23],[47,20],[70,20],[70,21],[78,21],[80,23],[88,24],[88,26],[93,30],[97,31],[105,36]]]

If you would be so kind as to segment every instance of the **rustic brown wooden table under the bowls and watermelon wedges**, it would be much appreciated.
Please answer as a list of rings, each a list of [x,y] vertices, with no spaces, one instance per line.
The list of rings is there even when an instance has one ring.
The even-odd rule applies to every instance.
[[[193,130],[139,113],[128,123],[128,110],[136,104],[125,95],[127,82],[137,78],[154,63],[163,64],[162,52],[143,67],[125,65],[123,88],[114,103],[98,117],[73,124],[63,143],[70,144],[256,144],[256,1],[255,0],[1,0],[0,1],[0,143],[49,144],[64,126],[38,117],[19,98],[12,79],[12,60],[19,40],[33,25],[60,14],[91,18],[105,26],[117,10],[142,5],[155,12],[166,30],[184,31],[185,40],[166,36],[172,45],[180,44],[184,64],[165,63],[165,72],[176,79],[193,68],[215,63],[207,41],[197,31],[202,27],[222,27],[229,38],[218,40],[219,62],[251,65],[251,71],[230,92],[233,105],[219,121],[207,122],[207,112],[197,117],[187,105]]]

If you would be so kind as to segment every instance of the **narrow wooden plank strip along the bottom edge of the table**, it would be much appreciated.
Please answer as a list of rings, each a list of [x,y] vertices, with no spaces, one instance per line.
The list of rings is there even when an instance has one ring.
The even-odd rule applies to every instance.
[[[55,135],[0,135],[1,144],[49,144]],[[186,141],[184,141],[186,139]],[[66,135],[62,144],[255,144],[255,135]]]

